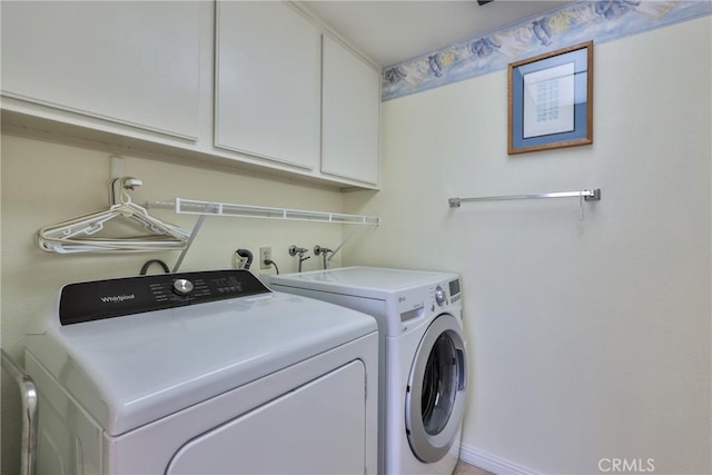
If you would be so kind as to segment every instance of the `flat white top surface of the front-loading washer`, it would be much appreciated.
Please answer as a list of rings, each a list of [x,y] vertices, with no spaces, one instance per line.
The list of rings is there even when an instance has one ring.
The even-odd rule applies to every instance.
[[[443,284],[456,278],[455,273],[343,267],[270,276],[269,284],[385,300],[389,294],[396,291]]]

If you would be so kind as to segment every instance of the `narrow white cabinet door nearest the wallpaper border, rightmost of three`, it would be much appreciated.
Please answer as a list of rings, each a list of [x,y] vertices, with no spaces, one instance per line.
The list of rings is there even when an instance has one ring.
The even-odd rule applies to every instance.
[[[324,37],[322,171],[378,182],[380,75]]]

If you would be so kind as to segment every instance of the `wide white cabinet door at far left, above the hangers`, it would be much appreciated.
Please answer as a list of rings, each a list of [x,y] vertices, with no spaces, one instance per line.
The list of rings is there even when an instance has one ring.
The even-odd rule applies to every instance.
[[[198,2],[2,2],[2,93],[198,135]]]

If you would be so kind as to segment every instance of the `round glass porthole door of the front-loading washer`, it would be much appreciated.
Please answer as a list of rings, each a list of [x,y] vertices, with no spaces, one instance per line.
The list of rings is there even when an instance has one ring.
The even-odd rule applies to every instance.
[[[466,353],[455,317],[443,314],[425,331],[411,367],[405,402],[411,449],[425,463],[443,458],[465,410]]]

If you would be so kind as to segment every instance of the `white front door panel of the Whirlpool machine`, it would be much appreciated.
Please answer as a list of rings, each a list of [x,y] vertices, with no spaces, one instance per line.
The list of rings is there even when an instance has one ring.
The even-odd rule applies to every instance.
[[[364,474],[365,384],[348,363],[191,439],[166,474]]]

